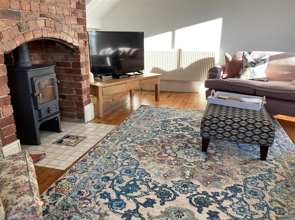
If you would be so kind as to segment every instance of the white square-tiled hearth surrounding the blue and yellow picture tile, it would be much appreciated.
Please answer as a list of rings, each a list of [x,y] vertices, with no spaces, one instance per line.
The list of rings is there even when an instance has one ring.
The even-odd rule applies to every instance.
[[[40,131],[41,145],[21,145],[22,150],[26,150],[30,154],[46,153],[45,158],[41,158],[36,166],[45,166],[65,170],[89,148],[93,147],[105,135],[111,132],[116,125],[103,125],[96,123],[73,123],[61,122],[62,133]],[[75,135],[87,137],[81,140],[75,146],[67,146],[54,144],[65,135]]]

